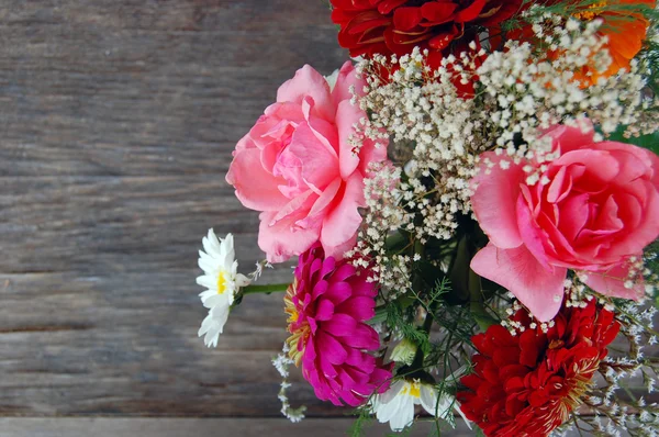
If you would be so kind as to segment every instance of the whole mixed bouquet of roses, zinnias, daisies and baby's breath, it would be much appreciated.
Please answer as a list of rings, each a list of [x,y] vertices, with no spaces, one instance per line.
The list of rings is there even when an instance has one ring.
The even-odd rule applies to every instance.
[[[657,435],[655,7],[332,0],[354,59],[302,67],[237,143],[226,181],[266,259],[238,273],[209,232],[199,335],[216,346],[248,294],[286,292],[293,422],[290,365],[355,435],[460,416]],[[290,283],[254,283],[292,257]]]

